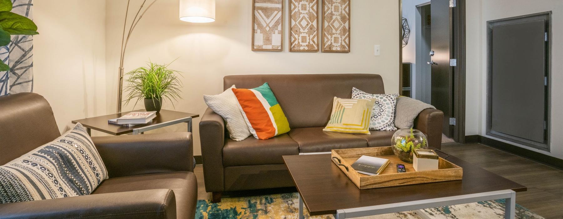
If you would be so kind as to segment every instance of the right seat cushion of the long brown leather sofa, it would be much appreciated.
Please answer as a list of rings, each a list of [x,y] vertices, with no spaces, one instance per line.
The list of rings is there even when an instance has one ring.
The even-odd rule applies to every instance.
[[[294,128],[289,137],[299,144],[299,153],[327,152],[332,149],[367,148],[368,142],[354,134],[325,132],[324,127]],[[389,138],[391,141],[391,138]]]

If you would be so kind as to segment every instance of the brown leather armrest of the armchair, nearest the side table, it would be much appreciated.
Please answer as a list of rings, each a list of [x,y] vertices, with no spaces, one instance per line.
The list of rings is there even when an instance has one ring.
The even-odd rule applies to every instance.
[[[92,137],[109,177],[193,171],[190,132]]]

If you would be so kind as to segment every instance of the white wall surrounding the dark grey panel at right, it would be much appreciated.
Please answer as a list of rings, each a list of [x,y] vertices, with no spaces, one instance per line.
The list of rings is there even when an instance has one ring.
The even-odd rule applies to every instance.
[[[551,151],[521,146],[563,158],[563,1],[560,0],[471,0],[466,1],[466,135],[486,136],[486,21],[552,11],[551,46]],[[491,136],[486,136],[494,138]],[[494,138],[504,141],[499,138]],[[507,141],[504,141],[507,142]]]

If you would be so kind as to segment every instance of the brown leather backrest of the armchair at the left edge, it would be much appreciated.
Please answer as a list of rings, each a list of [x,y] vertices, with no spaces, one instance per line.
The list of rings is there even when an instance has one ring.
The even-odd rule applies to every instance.
[[[0,97],[0,165],[59,136],[53,110],[43,96],[16,93]]]

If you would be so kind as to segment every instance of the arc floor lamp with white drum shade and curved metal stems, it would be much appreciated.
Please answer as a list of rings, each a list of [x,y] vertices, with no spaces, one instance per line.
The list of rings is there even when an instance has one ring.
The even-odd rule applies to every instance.
[[[121,38],[121,52],[119,56],[119,81],[118,81],[118,97],[117,97],[117,112],[121,112],[121,106],[123,102],[123,58],[125,57],[125,50],[127,48],[127,42],[129,42],[129,37],[131,33],[137,26],[137,23],[141,20],[145,12],[149,10],[151,6],[158,0],[151,2],[143,11],[143,6],[145,6],[146,0],[143,0],[141,6],[137,10],[133,21],[129,25],[129,30],[127,36],[125,34],[125,29],[127,26],[127,16],[129,14],[129,3],[131,0],[127,1],[127,9],[125,11],[125,21],[123,22],[123,35]],[[179,0],[180,2],[180,20],[191,22],[191,23],[209,23],[215,21],[215,0]],[[142,11],[142,12],[141,12]]]

